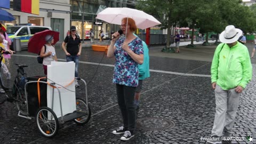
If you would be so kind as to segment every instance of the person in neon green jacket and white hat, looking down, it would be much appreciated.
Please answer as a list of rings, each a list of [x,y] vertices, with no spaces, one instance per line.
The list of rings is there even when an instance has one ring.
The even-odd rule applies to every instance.
[[[230,25],[220,34],[215,50],[211,82],[215,91],[215,117],[208,143],[230,142],[239,97],[252,79],[252,64],[247,47],[237,42],[242,30]],[[222,135],[222,133],[224,134]]]

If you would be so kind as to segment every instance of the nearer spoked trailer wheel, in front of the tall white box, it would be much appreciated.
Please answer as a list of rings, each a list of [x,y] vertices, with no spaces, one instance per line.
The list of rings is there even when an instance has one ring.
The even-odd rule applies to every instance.
[[[59,130],[59,121],[52,109],[41,107],[36,113],[38,130],[46,138],[54,137]]]

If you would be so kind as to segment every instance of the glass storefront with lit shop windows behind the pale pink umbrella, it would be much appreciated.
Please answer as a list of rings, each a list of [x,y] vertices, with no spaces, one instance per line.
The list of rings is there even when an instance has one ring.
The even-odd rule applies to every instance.
[[[99,39],[99,30],[103,30],[104,38],[110,38],[111,31],[118,31],[120,27],[95,19],[97,13],[107,7],[130,7],[135,8],[135,0],[70,0],[71,25],[76,26],[77,34],[81,39],[90,39],[90,29],[94,30],[94,38]],[[138,30],[135,33],[144,33],[146,30]],[[158,27],[151,28],[151,34],[162,34]]]

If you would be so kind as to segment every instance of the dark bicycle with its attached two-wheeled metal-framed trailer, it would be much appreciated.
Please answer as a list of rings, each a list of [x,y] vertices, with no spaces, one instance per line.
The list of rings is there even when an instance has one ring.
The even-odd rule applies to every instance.
[[[2,49],[0,47],[0,53],[2,53]],[[3,60],[3,56],[0,56],[0,62]],[[12,89],[7,88],[4,86],[2,75],[0,74],[0,85],[4,89],[6,93],[6,100],[9,102],[14,102],[15,107],[18,109],[18,116],[27,118],[27,119],[36,119],[36,124],[38,127],[39,132],[42,133],[42,135],[46,138],[52,138],[54,137],[58,130],[59,130],[59,122],[65,123],[69,121],[74,121],[77,125],[83,125],[89,122],[90,117],[91,117],[91,109],[88,105],[88,100],[87,100],[87,85],[86,82],[81,79],[77,78],[78,81],[83,81],[85,83],[85,95],[86,95],[86,100],[81,99],[81,98],[76,98],[76,110],[73,111],[73,113],[66,114],[65,116],[62,115],[62,110],[61,110],[61,117],[57,117],[56,114],[53,111],[53,102],[52,106],[47,107],[45,106],[39,106],[36,108],[36,113],[34,113],[34,109],[30,108],[31,107],[31,102],[29,101],[29,96],[28,96],[28,87],[30,84],[45,84],[45,85],[51,85],[53,89],[57,89],[59,92],[59,100],[60,100],[60,109],[62,109],[61,106],[61,94],[60,94],[60,87],[56,86],[58,84],[53,83],[47,83],[46,81],[35,81],[31,80],[33,77],[28,77],[27,74],[25,73],[24,68],[28,67],[27,65],[17,65],[17,75],[15,76],[14,82]],[[1,67],[1,65],[0,65]],[[62,86],[63,87],[63,86]],[[40,88],[41,89],[41,88]],[[66,89],[66,88],[65,88]],[[39,94],[38,94],[39,95]],[[34,98],[38,98],[37,96]],[[53,99],[54,95],[52,95]],[[42,102],[42,99],[39,97],[39,101]],[[33,110],[31,110],[33,109]]]

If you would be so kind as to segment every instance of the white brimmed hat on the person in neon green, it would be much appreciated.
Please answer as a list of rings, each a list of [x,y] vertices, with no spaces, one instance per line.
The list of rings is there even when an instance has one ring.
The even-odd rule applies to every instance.
[[[235,28],[233,25],[229,25],[220,34],[220,42],[227,44],[234,43],[242,34],[243,31],[241,29]]]

